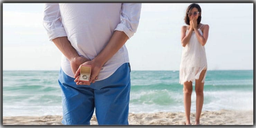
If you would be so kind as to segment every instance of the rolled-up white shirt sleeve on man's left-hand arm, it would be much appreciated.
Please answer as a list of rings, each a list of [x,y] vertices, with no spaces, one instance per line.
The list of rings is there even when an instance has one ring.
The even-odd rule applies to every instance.
[[[45,3],[43,26],[50,41],[57,37],[67,36],[61,22],[60,7],[58,3]]]

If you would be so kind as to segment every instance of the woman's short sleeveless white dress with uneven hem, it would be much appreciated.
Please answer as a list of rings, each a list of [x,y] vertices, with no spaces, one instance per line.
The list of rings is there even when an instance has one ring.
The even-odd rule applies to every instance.
[[[199,33],[203,35],[200,28],[198,29]],[[186,30],[186,34],[188,34],[188,29]],[[194,82],[195,79],[198,80],[200,73],[205,69],[207,69],[205,48],[199,43],[193,31],[189,43],[182,50],[179,83],[183,84],[186,81]],[[202,83],[205,80],[205,76],[206,72]]]

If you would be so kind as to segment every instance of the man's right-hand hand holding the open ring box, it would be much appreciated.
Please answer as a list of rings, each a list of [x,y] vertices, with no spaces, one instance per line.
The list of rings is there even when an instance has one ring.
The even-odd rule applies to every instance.
[[[91,76],[90,76],[89,83],[78,81],[80,77],[80,69],[81,69],[81,66],[83,65],[91,65]],[[85,63],[81,64],[75,73],[74,81],[76,82],[76,85],[90,85],[91,83],[94,83],[95,80],[98,79],[98,75],[100,73],[101,68],[102,68],[102,65],[100,65],[100,63],[97,63],[95,60],[86,61]]]

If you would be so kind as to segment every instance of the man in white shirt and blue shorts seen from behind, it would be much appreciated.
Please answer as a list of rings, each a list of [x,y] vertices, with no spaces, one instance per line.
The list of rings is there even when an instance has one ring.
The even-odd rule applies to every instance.
[[[64,125],[128,125],[130,65],[125,42],[134,35],[141,3],[47,3],[44,27],[62,52],[59,84]],[[88,83],[80,65],[91,65]]]

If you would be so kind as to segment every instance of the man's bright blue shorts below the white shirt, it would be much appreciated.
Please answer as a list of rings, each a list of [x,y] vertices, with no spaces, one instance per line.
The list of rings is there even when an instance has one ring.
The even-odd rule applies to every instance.
[[[58,82],[62,89],[64,125],[90,125],[94,112],[99,125],[128,125],[130,65],[121,65],[107,79],[91,85],[76,85],[62,69]]]

